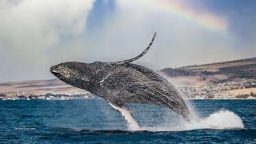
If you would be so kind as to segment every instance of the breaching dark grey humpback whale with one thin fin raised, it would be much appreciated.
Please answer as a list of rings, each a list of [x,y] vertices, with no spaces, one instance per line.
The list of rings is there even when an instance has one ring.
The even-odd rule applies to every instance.
[[[50,72],[71,86],[106,99],[122,114],[130,113],[127,103],[151,104],[166,106],[189,120],[188,107],[170,82],[145,66],[131,63],[146,54],[155,36],[146,50],[135,58],[121,62],[65,62],[51,66]]]

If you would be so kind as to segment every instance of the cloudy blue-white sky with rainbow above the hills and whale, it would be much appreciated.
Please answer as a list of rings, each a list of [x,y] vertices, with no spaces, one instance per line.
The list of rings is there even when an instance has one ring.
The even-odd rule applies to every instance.
[[[0,0],[0,82],[60,62],[134,58],[153,70],[256,57],[254,0]]]

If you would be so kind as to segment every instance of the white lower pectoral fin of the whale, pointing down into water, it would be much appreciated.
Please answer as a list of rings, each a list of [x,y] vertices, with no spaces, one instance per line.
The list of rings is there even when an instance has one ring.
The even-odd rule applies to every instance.
[[[141,128],[138,126],[138,123],[135,121],[133,114],[126,105],[110,102],[110,106],[112,106],[114,110],[117,110],[119,113],[121,113],[122,116],[126,119],[129,130],[141,130]]]

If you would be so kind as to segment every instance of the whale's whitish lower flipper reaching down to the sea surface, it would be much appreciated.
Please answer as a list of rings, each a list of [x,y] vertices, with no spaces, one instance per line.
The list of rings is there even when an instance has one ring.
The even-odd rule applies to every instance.
[[[139,126],[138,123],[134,120],[132,117],[130,110],[126,110],[125,108],[121,108],[118,106],[114,106],[113,104],[110,103],[110,106],[114,108],[114,110],[118,110],[122,116],[126,119],[127,124],[128,124],[128,130],[136,131],[136,130],[142,130]]]

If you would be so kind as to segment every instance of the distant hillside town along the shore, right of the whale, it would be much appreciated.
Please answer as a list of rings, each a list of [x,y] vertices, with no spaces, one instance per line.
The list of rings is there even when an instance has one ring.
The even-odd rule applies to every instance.
[[[187,98],[256,98],[256,78],[205,86],[178,86]]]

